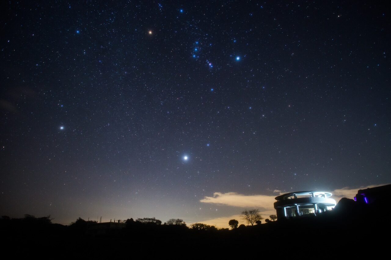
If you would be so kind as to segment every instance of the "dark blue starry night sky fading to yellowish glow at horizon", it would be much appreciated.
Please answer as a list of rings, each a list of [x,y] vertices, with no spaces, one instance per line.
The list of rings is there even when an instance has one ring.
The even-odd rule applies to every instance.
[[[381,1],[0,12],[2,215],[194,223],[272,212],[280,193],[391,182]]]

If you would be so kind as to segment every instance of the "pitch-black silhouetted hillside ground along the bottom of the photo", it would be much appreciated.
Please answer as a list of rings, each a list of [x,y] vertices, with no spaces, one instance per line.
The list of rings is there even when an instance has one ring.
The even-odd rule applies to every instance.
[[[235,230],[128,221],[124,228],[96,232],[87,221],[63,226],[32,216],[2,217],[0,228],[3,255],[12,258],[388,258],[390,216],[383,203],[343,199],[318,216]]]

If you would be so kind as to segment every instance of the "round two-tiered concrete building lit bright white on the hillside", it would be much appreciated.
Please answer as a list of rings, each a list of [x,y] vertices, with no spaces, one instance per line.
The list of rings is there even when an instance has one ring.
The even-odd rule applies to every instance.
[[[330,210],[335,207],[332,194],[325,191],[297,191],[276,197],[274,209],[277,219],[304,216]]]

